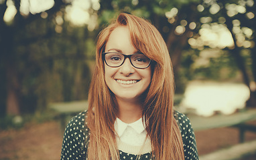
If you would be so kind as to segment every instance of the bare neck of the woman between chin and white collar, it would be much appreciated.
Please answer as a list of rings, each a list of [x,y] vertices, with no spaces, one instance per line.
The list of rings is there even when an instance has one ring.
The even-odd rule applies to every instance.
[[[138,101],[129,101],[117,97],[117,117],[125,123],[133,123],[142,117],[142,105]]]

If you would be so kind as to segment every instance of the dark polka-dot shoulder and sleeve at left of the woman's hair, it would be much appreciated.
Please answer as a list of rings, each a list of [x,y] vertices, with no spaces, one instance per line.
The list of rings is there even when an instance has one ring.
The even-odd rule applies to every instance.
[[[86,111],[73,117],[64,131],[62,159],[83,159],[86,156],[90,131],[85,124]]]

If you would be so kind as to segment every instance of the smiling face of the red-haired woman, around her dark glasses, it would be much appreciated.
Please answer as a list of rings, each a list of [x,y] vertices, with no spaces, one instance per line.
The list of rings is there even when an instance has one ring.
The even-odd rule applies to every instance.
[[[105,52],[118,52],[124,55],[137,53],[131,43],[128,27],[114,29],[107,41]],[[129,58],[120,67],[109,67],[105,63],[105,81],[117,99],[137,101],[151,82],[151,67],[137,69]]]

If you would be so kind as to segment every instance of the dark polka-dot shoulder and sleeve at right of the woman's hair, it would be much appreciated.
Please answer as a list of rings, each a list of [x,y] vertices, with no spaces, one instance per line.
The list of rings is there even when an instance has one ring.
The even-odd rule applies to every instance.
[[[196,137],[194,135],[194,130],[190,123],[190,119],[178,111],[174,111],[174,118],[180,127],[185,159],[198,159]]]

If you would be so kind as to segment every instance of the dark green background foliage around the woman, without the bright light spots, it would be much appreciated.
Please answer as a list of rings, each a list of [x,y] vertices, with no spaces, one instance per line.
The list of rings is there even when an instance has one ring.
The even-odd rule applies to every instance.
[[[18,2],[15,3],[17,8]],[[60,0],[55,2],[57,5],[64,3]],[[202,17],[210,17],[207,24],[220,23],[227,26],[231,33],[234,27],[233,20],[239,19],[241,31],[237,35],[233,33],[233,38],[237,41],[237,37],[243,35],[245,41],[254,41],[255,45],[255,18],[247,17],[249,12],[255,14],[255,4],[250,6],[249,0],[106,0],[100,3],[101,9],[97,11],[97,27],[94,31],[88,31],[86,25],[74,27],[66,21],[64,4],[46,11],[49,15],[44,18],[41,13],[23,17],[17,12],[11,23],[6,25],[3,19],[1,20],[0,47],[4,48],[3,54],[0,55],[0,77],[3,77],[0,79],[1,113],[5,112],[5,91],[9,89],[6,87],[9,86],[8,82],[15,86],[23,113],[44,111],[51,102],[86,99],[94,66],[97,34],[122,11],[148,19],[163,35],[172,53],[176,93],[182,93],[186,83],[192,79],[234,79],[240,69],[233,54],[235,50],[232,48],[212,48],[218,50],[218,53],[202,53],[200,49],[210,51],[206,48],[207,44],[198,48],[192,48],[188,44],[191,37],[200,37],[199,31],[202,24],[205,24],[200,20]],[[229,4],[244,6],[246,12],[229,16],[226,8]],[[0,5],[0,13],[3,15],[6,5],[3,1]],[[203,7],[202,11],[198,11],[198,5]],[[214,5],[220,7],[216,13],[212,13],[211,10]],[[166,12],[174,7],[178,10],[177,15],[172,18],[166,17]],[[88,11],[90,14],[96,13],[92,9]],[[62,18],[62,24],[56,22],[57,16]],[[195,29],[190,29],[191,22],[196,23]],[[176,32],[179,26],[184,27],[183,33]],[[245,34],[247,28],[253,31],[251,37]],[[256,61],[253,58],[253,45],[247,49],[243,45],[235,47],[240,49],[243,64],[249,77],[253,79],[253,64]],[[205,54],[210,56],[205,57]],[[200,65],[202,62],[204,65]],[[8,67],[11,67],[8,71],[14,71],[11,78],[7,77]],[[9,121],[8,119],[6,121]]]

